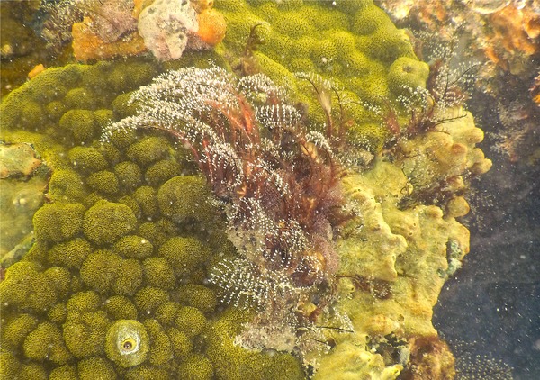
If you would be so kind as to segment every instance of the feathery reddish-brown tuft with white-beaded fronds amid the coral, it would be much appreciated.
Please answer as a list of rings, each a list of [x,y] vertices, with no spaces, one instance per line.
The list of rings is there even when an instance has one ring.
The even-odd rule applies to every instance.
[[[131,102],[139,112],[104,136],[153,128],[191,150],[240,253],[214,267],[210,281],[224,302],[263,311],[244,344],[302,347],[299,330],[331,302],[334,240],[347,218],[334,139],[308,131],[284,90],[261,74],[238,79],[223,68],[182,68],[141,87]],[[297,313],[308,304],[313,310]],[[271,330],[281,332],[268,340]]]

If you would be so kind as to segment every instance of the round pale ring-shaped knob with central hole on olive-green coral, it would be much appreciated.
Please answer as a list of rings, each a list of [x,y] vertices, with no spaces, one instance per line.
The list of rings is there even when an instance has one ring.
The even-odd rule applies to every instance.
[[[105,353],[120,366],[139,366],[148,356],[146,328],[136,320],[118,320],[107,330]]]

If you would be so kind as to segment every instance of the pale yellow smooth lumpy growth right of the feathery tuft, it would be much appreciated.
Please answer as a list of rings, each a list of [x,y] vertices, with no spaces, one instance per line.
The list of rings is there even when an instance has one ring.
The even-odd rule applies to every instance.
[[[336,337],[335,350],[320,359],[318,378],[453,378],[454,358],[431,316],[446,279],[469,252],[469,231],[455,218],[469,212],[460,196],[463,176],[491,167],[475,148],[482,138],[466,114],[401,142],[392,160],[378,157],[371,170],[344,179],[360,217],[338,243],[339,307],[355,334]],[[408,201],[441,180],[452,194],[447,202]],[[417,350],[425,354],[415,356]],[[337,368],[346,375],[336,375]]]

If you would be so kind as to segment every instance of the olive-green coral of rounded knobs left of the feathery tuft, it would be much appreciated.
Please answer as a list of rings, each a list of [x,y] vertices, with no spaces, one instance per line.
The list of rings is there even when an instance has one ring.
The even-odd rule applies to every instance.
[[[233,345],[249,313],[218,312],[204,285],[232,249],[186,152],[159,134],[97,140],[159,69],[69,65],[4,100],[3,140],[31,141],[52,176],[36,241],[0,283],[0,377],[302,378],[290,354]]]

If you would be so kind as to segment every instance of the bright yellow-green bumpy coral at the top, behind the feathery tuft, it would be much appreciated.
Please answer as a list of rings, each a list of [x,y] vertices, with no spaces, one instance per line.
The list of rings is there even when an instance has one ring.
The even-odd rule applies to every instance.
[[[406,88],[426,86],[427,66],[416,58],[409,35],[371,0],[231,0],[217,2],[215,8],[227,22],[222,43],[234,52],[233,68],[242,74],[263,72],[279,85],[294,82],[294,72],[331,77],[335,87],[345,90],[341,106],[362,130],[357,143],[369,149],[382,145],[388,131],[362,104],[383,105]],[[408,73],[390,77],[397,59],[408,59]],[[311,117],[325,122],[318,99],[309,89],[300,93],[306,95],[300,99],[308,104]]]

